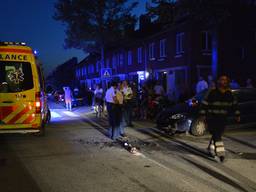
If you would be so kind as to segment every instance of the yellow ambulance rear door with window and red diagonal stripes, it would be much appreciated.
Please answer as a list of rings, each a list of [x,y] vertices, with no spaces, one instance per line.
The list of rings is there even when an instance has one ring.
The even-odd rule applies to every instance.
[[[30,62],[0,61],[0,127],[35,119],[35,91]]]

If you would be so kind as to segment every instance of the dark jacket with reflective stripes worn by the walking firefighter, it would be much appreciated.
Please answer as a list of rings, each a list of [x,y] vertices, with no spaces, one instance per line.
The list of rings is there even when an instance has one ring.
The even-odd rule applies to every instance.
[[[226,117],[229,114],[240,116],[240,111],[231,90],[221,92],[219,89],[211,89],[201,103],[200,114],[207,117]]]

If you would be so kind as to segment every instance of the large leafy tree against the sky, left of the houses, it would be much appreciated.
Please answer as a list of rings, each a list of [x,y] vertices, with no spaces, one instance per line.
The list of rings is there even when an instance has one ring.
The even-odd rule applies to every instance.
[[[131,12],[137,4],[128,0],[58,0],[53,17],[66,25],[66,48],[99,52],[104,65],[104,47],[135,25]]]

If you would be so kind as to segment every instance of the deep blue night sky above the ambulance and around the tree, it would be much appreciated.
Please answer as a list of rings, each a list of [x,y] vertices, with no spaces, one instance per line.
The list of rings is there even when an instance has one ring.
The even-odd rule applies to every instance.
[[[57,65],[85,53],[64,49],[65,26],[52,18],[56,0],[1,0],[0,41],[26,42],[39,52],[48,74]],[[143,12],[146,0],[140,0],[135,13]]]

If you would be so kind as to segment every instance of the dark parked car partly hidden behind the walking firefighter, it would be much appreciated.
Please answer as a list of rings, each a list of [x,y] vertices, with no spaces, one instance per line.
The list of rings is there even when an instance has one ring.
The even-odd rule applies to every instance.
[[[238,108],[241,112],[239,127],[256,123],[256,89],[239,88],[232,90],[238,99]],[[165,128],[168,132],[190,131],[192,135],[201,136],[207,131],[205,121],[200,118],[200,103],[207,90],[200,92],[184,103],[163,110],[157,117],[157,127]],[[235,116],[228,117],[228,127],[236,126]]]

